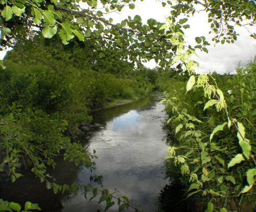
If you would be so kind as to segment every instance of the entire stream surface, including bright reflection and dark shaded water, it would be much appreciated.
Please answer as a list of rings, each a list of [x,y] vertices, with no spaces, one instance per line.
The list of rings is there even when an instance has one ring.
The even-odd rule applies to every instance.
[[[160,190],[167,183],[163,163],[166,132],[162,129],[166,115],[162,112],[164,105],[158,103],[161,98],[161,93],[155,92],[135,103],[95,112],[94,123],[90,129],[86,127],[88,133],[80,139],[89,151],[96,150],[95,173],[103,176],[104,188],[116,188],[119,194],[129,197],[132,205],[147,211],[157,210]],[[86,184],[90,176],[84,167],[63,161],[53,174],[60,183]],[[104,205],[96,200],[88,203],[83,193],[54,195],[32,174],[1,186],[0,197],[17,202],[30,200],[43,211],[104,211]]]

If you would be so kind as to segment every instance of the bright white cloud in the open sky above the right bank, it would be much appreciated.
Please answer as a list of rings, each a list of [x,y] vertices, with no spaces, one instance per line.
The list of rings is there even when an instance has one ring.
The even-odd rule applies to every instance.
[[[213,34],[208,34],[210,30],[206,13],[197,13],[189,20],[191,28],[186,30],[188,43],[196,44],[194,37],[206,36],[211,44],[208,46],[209,53],[197,52],[199,58],[194,58],[199,62],[199,73],[213,72],[227,73],[234,72],[235,67],[240,62],[245,66],[250,59],[256,56],[256,40],[249,37],[248,31],[243,27],[236,30],[240,36],[234,44],[216,44],[211,41]]]

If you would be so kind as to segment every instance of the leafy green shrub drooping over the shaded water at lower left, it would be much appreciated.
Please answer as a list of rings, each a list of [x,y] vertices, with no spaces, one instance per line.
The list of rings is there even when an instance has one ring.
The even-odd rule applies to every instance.
[[[55,158],[64,151],[64,159],[73,161],[76,166],[83,164],[93,167],[93,162],[83,147],[71,143],[63,135],[66,121],[53,120],[42,110],[23,109],[22,105],[13,103],[9,113],[1,117],[3,127],[1,134],[1,162],[9,169],[12,182],[22,176],[16,168],[19,163],[30,166],[41,182],[49,183],[51,177],[47,167],[55,167]],[[45,145],[47,144],[47,145]]]

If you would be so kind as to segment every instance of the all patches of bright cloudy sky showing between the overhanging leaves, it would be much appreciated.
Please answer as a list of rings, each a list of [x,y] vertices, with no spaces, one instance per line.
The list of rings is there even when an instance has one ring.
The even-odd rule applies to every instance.
[[[131,10],[125,7],[121,13],[110,13],[106,18],[113,18],[114,23],[118,23],[130,15],[140,15],[142,22],[150,18],[156,19],[158,22],[166,22],[166,17],[170,14],[168,6],[162,7],[161,2],[157,0],[144,0],[135,2],[135,9]],[[207,14],[204,12],[196,13],[190,17],[187,24],[191,28],[186,29],[186,41],[188,44],[195,45],[194,38],[196,36],[206,36],[207,41],[211,44],[208,46],[208,54],[197,51],[199,57],[194,60],[199,62],[198,73],[213,72],[217,73],[234,73],[235,67],[246,66],[246,64],[256,56],[256,40],[249,37],[246,29],[238,27],[237,31],[240,34],[234,44],[216,44],[212,43],[212,36],[208,34],[209,24],[207,22]],[[3,59],[5,52],[0,52],[0,59]],[[146,64],[147,67],[153,68],[156,66],[155,61],[150,61]]]

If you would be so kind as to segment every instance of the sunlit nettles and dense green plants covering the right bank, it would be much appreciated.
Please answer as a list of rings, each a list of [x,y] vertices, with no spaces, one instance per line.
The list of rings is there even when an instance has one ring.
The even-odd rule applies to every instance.
[[[187,197],[200,195],[203,201],[211,200],[207,211],[213,210],[213,204],[216,210],[236,210],[239,205],[232,205],[232,201],[244,193],[247,195],[240,204],[255,202],[255,67],[253,61],[247,68],[237,68],[236,75],[194,76],[197,82],[190,79],[178,92],[166,93],[168,122],[180,141],[171,142],[168,163],[180,167],[181,181],[188,186]],[[177,88],[182,82],[172,79],[172,83]],[[198,88],[192,89],[194,84],[203,88],[204,96]],[[186,91],[190,92],[184,96]],[[226,202],[220,202],[219,197]]]

